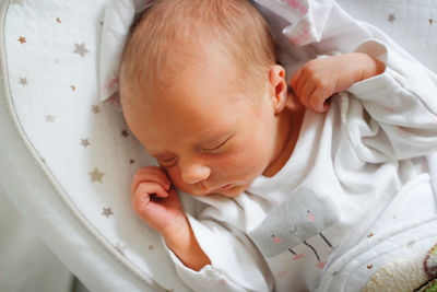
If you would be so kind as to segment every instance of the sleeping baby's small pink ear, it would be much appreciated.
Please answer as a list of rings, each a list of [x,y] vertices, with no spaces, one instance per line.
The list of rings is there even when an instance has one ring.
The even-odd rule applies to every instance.
[[[269,72],[270,96],[274,114],[280,114],[286,104],[287,84],[285,81],[285,70],[280,65],[274,65]]]

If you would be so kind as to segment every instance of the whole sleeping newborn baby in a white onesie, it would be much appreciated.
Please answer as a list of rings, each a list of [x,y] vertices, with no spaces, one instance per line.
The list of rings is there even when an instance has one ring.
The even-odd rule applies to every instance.
[[[324,291],[329,267],[435,213],[434,73],[375,39],[290,77],[277,59],[245,0],[153,1],[131,28],[121,105],[160,165],[137,172],[132,208],[194,291]],[[382,245],[364,252],[369,234]]]

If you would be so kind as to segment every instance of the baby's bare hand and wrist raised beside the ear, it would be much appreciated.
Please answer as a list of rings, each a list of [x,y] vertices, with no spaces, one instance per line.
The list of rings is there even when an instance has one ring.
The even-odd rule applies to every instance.
[[[329,56],[308,61],[292,77],[291,85],[300,103],[317,113],[329,109],[326,101],[385,70],[383,62],[364,52]]]

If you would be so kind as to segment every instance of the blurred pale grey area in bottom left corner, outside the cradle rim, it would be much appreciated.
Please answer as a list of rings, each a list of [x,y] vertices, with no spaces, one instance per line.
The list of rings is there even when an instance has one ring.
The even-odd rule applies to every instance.
[[[1,186],[0,234],[0,291],[70,291],[72,275],[39,241]]]

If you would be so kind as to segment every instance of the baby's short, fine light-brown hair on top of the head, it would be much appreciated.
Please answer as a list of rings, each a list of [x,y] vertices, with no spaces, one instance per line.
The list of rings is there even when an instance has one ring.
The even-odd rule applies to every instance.
[[[267,82],[276,62],[270,28],[247,0],[155,0],[131,26],[121,60],[121,97],[125,86],[143,91],[176,73],[174,68],[201,61],[198,48],[231,56],[251,85]]]

